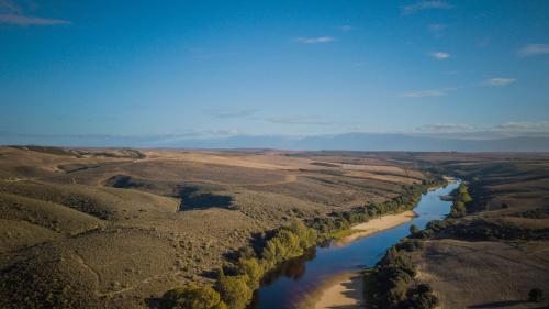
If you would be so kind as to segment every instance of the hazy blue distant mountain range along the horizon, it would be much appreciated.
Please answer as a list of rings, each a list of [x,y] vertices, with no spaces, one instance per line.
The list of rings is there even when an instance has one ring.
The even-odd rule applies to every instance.
[[[234,135],[215,139],[109,135],[2,136],[0,134],[0,144],[79,147],[280,148],[296,151],[549,152],[549,137],[547,136],[475,140],[379,133],[345,133],[306,137]]]

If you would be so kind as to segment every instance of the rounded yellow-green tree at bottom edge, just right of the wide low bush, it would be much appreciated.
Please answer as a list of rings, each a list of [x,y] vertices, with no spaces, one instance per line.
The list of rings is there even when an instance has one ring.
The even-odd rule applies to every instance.
[[[231,309],[244,309],[251,300],[251,289],[246,284],[246,275],[223,276],[217,280],[216,288],[221,298]]]

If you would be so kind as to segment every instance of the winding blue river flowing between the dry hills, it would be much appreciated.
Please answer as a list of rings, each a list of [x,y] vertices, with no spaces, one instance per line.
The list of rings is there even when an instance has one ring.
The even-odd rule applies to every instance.
[[[343,246],[317,246],[299,258],[283,263],[266,276],[250,308],[296,308],[304,296],[334,275],[374,265],[391,245],[410,234],[411,224],[423,229],[430,220],[442,219],[450,211],[451,201],[444,201],[440,196],[450,194],[458,186],[453,183],[424,194],[414,208],[418,217],[402,225]]]

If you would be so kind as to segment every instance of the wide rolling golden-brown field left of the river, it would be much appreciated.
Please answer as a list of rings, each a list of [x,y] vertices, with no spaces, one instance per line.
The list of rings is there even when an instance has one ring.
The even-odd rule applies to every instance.
[[[155,307],[256,234],[423,179],[365,154],[0,147],[0,307]]]

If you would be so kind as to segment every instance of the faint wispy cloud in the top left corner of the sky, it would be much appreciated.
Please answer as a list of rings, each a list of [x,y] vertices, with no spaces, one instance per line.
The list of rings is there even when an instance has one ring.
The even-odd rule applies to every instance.
[[[0,0],[0,24],[11,24],[19,26],[26,25],[60,25],[71,24],[70,21],[31,16],[24,13],[23,9],[9,0]]]

